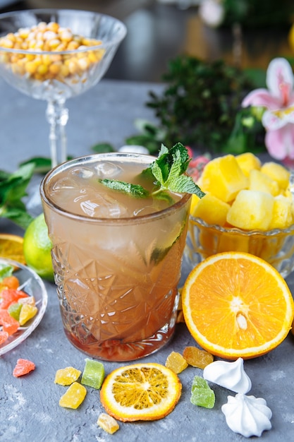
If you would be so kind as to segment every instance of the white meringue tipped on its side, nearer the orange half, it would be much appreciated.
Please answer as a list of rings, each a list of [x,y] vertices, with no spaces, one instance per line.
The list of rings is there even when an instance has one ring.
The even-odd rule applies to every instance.
[[[245,373],[241,357],[235,362],[212,362],[204,368],[203,377],[235,393],[248,393],[252,386],[249,376]]]

